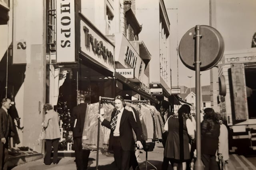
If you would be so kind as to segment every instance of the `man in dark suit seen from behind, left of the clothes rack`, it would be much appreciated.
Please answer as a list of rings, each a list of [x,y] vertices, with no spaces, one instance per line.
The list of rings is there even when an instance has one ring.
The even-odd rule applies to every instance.
[[[74,150],[76,157],[77,170],[86,170],[88,166],[88,158],[90,150],[82,148],[82,134],[84,129],[84,119],[87,104],[84,103],[84,95],[78,96],[78,106],[75,106],[70,115],[70,126],[73,131]]]

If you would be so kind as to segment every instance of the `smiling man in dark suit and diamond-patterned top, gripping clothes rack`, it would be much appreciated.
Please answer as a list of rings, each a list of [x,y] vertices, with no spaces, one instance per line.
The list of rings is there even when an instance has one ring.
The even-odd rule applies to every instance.
[[[131,150],[134,150],[132,129],[136,134],[138,149],[142,149],[142,134],[131,111],[124,109],[124,98],[115,97],[116,110],[112,112],[110,121],[100,114],[101,124],[111,129],[108,149],[114,151],[114,160],[119,170],[128,170]]]

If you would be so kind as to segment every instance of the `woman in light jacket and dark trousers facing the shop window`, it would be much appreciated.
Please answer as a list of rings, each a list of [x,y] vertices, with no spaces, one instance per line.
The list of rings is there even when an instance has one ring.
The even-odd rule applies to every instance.
[[[59,114],[53,110],[52,105],[45,104],[44,111],[46,111],[44,122],[42,126],[46,131],[45,141],[46,141],[46,154],[44,156],[44,164],[50,165],[51,152],[53,147],[53,163],[58,163],[58,144],[60,140],[60,126]]]

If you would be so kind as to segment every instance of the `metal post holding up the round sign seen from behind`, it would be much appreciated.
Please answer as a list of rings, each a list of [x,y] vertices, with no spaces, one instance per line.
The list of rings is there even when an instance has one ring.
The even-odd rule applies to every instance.
[[[196,162],[195,170],[204,170],[201,160],[201,126],[200,126],[200,25],[195,28],[195,67],[196,67]]]

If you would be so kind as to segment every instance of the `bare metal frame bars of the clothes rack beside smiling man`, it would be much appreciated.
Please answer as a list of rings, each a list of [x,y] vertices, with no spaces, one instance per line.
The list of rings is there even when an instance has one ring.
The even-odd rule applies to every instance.
[[[99,114],[100,114],[100,103],[101,101],[114,101],[115,98],[107,98],[107,97],[99,97]],[[148,103],[150,104],[150,100],[124,100],[124,102],[130,103]],[[99,162],[99,145],[100,145],[100,118],[98,118],[98,135],[97,135],[97,154],[96,154],[96,170],[98,170],[98,162]],[[147,154],[147,153],[146,153]]]

